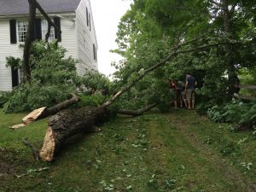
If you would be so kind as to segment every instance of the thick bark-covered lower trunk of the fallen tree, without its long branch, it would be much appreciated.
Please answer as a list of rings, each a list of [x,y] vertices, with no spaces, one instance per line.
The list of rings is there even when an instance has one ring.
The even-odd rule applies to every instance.
[[[96,124],[108,119],[108,108],[66,109],[49,118],[40,158],[53,160],[55,153],[69,137],[81,132],[96,131]]]

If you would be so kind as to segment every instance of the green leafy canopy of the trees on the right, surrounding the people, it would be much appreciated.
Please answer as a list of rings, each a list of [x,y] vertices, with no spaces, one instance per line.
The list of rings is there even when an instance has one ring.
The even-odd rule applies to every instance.
[[[114,74],[118,86],[131,84],[139,74],[163,61],[172,52],[172,48],[207,32],[207,36],[186,44],[182,50],[218,43],[185,54],[179,54],[164,67],[150,73],[131,92],[125,95],[130,101],[127,106],[140,106],[145,103],[160,102],[161,111],[170,107],[170,98],[165,86],[166,79],[184,80],[184,73],[192,73],[198,82],[196,105],[200,113],[207,113],[214,105],[225,105],[233,94],[236,74],[248,70],[249,76],[255,76],[255,9],[250,1],[229,1],[227,9],[220,9],[218,1],[178,1],[178,0],[134,0],[131,9],[119,23],[116,42],[119,49],[113,50],[124,57],[114,63],[119,69]],[[222,6],[223,4],[220,3]],[[233,10],[231,10],[233,8]],[[224,13],[226,11],[226,13]],[[223,15],[230,20],[224,20]],[[237,19],[239,18],[239,19]],[[230,32],[225,26],[231,26]],[[223,42],[236,44],[227,45]],[[148,75],[148,76],[149,76]],[[241,75],[240,77],[245,77]],[[242,81],[243,82],[243,81]],[[143,87],[146,84],[146,87]],[[255,81],[254,83],[255,84]],[[143,87],[143,89],[142,89]],[[149,93],[141,96],[138,93]],[[138,101],[141,98],[144,102]],[[199,99],[198,99],[199,98]],[[124,99],[124,100],[125,100]],[[210,102],[209,102],[210,101]],[[132,103],[133,105],[132,105]],[[139,103],[139,105],[138,105]],[[215,121],[235,119],[233,109],[229,113],[210,111]],[[233,117],[234,116],[234,117]]]

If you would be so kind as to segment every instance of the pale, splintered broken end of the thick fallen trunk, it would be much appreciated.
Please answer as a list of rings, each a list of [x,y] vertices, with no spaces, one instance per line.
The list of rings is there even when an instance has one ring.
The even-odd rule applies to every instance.
[[[55,154],[55,137],[51,127],[49,126],[45,137],[44,137],[44,145],[40,151],[40,158],[45,161],[53,160]]]

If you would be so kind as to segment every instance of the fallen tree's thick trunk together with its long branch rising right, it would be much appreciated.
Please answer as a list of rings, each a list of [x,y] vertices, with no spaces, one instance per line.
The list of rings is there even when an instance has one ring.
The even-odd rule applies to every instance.
[[[202,36],[200,37],[202,38]],[[40,151],[40,157],[42,160],[51,161],[55,157],[55,153],[60,150],[63,143],[67,141],[69,137],[80,132],[86,131],[96,131],[95,126],[99,121],[107,121],[109,115],[108,107],[117,101],[120,96],[122,96],[126,91],[130,90],[138,81],[143,79],[145,75],[154,71],[155,69],[162,67],[166,64],[166,61],[174,59],[178,54],[188,53],[190,51],[205,49],[210,46],[216,46],[218,44],[227,44],[227,43],[216,43],[216,44],[207,44],[198,46],[193,49],[181,50],[181,48],[192,42],[197,41],[200,38],[195,38],[189,42],[184,42],[177,44],[172,48],[170,55],[166,59],[154,64],[153,67],[149,67],[143,73],[138,75],[137,79],[134,79],[131,84],[125,86],[117,94],[115,94],[108,102],[102,104],[98,108],[79,108],[79,109],[67,109],[59,113],[56,113],[54,116],[49,118],[48,129],[44,137],[44,145]],[[155,104],[152,104],[149,108],[154,108]],[[121,112],[121,111],[120,111]],[[124,111],[123,111],[124,112]],[[126,111],[128,113],[128,111]],[[131,112],[131,111],[130,111]],[[131,115],[136,115],[138,113],[143,113],[143,111],[137,111],[136,113],[130,113]]]

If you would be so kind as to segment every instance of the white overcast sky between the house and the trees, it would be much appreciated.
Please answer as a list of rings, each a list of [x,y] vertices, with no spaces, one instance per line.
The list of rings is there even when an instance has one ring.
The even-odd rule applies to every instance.
[[[116,32],[120,18],[130,9],[131,0],[90,0],[98,44],[98,68],[109,75],[114,72],[111,61],[119,61],[119,55],[110,53],[117,48]]]

